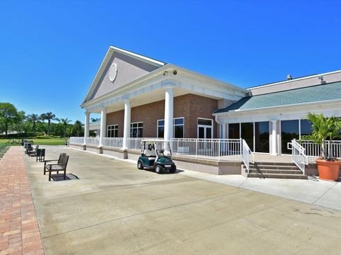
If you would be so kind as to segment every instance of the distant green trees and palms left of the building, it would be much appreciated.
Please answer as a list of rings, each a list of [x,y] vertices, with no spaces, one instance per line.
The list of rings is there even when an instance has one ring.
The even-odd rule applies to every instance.
[[[54,122],[53,122],[54,121]],[[80,120],[57,118],[55,114],[28,114],[18,111],[12,103],[0,103],[0,134],[5,137],[28,137],[38,135],[55,135],[59,137],[84,135]]]

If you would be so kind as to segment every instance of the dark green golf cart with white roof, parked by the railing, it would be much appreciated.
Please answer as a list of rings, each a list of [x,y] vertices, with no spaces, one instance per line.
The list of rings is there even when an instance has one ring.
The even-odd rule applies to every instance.
[[[157,174],[168,170],[171,174],[176,172],[176,166],[170,156],[163,154],[165,149],[156,149],[157,144],[163,144],[163,140],[142,140],[141,156],[137,161],[138,169],[155,169]]]

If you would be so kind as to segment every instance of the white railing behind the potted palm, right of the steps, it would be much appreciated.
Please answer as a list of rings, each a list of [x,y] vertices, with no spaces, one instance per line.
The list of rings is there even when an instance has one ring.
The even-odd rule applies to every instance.
[[[315,159],[322,156],[322,148],[320,145],[316,145],[312,141],[299,141],[299,143],[305,149],[309,163],[315,162]],[[325,141],[325,149],[330,157],[341,159],[341,141],[332,140],[331,146],[330,141]]]

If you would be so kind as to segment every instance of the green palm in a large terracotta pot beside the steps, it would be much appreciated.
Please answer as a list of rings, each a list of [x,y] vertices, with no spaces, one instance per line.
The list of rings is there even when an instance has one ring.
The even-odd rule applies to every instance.
[[[335,116],[325,117],[322,113],[308,113],[307,117],[312,123],[312,133],[305,135],[303,139],[312,140],[321,147],[321,155],[315,160],[318,165],[318,175],[323,180],[338,181],[341,161],[332,157],[331,141],[341,137],[341,120]],[[326,142],[328,139],[329,142]]]

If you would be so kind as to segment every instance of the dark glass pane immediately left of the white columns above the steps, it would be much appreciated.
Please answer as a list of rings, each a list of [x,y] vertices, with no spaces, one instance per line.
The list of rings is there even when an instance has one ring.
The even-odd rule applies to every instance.
[[[254,123],[254,151],[269,153],[269,121]]]

